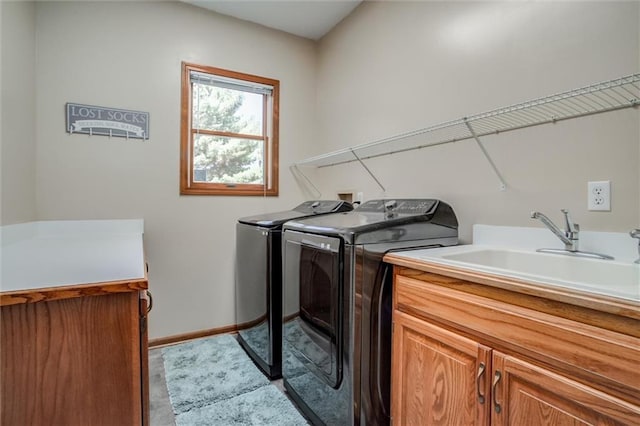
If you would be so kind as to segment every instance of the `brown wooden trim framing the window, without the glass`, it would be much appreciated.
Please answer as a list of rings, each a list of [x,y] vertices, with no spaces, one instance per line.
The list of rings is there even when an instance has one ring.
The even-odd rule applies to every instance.
[[[267,84],[273,87],[273,111],[271,114],[271,135],[267,136],[267,120],[262,121],[263,136],[230,134],[214,130],[199,130],[200,134],[216,136],[233,136],[264,141],[264,185],[262,184],[224,184],[194,182],[193,168],[193,133],[191,114],[190,72],[199,71],[208,74]],[[182,62],[181,108],[180,108],[180,194],[181,195],[240,195],[240,196],[277,196],[279,185],[279,119],[280,119],[280,81],[251,74],[243,74],[221,68],[196,65]],[[264,111],[268,102],[264,99]]]

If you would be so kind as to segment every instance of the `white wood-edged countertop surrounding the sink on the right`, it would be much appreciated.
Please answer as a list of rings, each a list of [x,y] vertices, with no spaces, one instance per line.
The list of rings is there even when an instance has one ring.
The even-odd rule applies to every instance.
[[[551,235],[553,238],[548,238],[545,231],[545,229],[536,228],[475,225],[473,244],[390,253],[385,256],[384,260],[394,265],[424,272],[640,318],[640,265],[637,264],[631,266],[631,275],[626,282],[612,282],[610,285],[594,287],[580,281],[558,280],[554,277],[470,264],[455,260],[455,256],[449,258],[451,255],[480,250],[509,249],[520,252],[535,252],[536,247],[554,247],[554,244],[557,247],[553,239],[555,237]],[[524,232],[524,234],[520,232]],[[623,233],[592,234],[588,237],[590,242],[587,245],[591,251],[616,255],[615,261],[594,260],[593,262],[612,262],[612,265],[621,265],[629,269],[637,248],[628,235]],[[513,243],[512,239],[514,238],[519,243]],[[523,241],[527,241],[527,243],[523,243]],[[560,255],[549,254],[546,256]]]

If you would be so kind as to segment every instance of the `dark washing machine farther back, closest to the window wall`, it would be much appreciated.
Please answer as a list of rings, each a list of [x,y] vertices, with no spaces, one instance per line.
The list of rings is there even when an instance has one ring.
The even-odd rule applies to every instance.
[[[243,217],[236,224],[238,341],[271,379],[281,377],[282,225],[352,209],[345,201],[306,201],[292,210]]]

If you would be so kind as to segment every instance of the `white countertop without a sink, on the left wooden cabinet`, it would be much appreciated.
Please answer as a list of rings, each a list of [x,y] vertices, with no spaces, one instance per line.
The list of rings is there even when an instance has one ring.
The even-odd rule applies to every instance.
[[[0,291],[144,278],[142,219],[0,227]]]

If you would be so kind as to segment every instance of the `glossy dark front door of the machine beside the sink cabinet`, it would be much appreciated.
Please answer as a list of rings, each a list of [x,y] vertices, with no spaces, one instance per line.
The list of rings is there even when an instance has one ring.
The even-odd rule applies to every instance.
[[[342,380],[342,251],[339,238],[284,233],[283,359],[293,357],[291,374],[311,371],[333,388]]]

